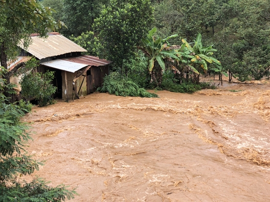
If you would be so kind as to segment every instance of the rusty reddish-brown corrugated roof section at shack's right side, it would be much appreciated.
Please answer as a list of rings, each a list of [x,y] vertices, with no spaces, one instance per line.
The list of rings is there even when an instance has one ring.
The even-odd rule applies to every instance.
[[[61,58],[61,60],[76,62],[80,64],[86,64],[90,66],[97,66],[97,67],[104,66],[110,63],[107,60],[101,60],[98,57],[94,57],[94,56],[67,57],[67,58]]]

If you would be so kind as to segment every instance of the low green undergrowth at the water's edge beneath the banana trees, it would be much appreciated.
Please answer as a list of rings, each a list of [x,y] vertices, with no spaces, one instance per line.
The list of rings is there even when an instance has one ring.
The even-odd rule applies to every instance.
[[[173,82],[172,80],[167,79],[162,82],[161,88],[160,88],[160,90],[167,90],[167,91],[179,92],[179,93],[193,93],[201,89],[216,89],[216,86],[207,82],[194,84],[190,81],[184,82],[182,84],[177,84]]]

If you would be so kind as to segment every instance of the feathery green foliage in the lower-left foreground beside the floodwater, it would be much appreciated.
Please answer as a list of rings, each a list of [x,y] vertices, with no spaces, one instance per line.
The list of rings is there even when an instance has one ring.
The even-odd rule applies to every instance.
[[[12,91],[12,84],[6,85],[2,79],[6,69],[0,70],[0,90]],[[42,163],[35,161],[25,149],[29,127],[20,118],[29,112],[27,105],[16,105],[8,102],[0,93],[0,201],[62,201],[74,198],[74,190],[67,190],[64,185],[48,186],[45,181],[35,178],[30,183],[21,181],[20,177],[32,174]],[[23,108],[21,106],[24,106]]]

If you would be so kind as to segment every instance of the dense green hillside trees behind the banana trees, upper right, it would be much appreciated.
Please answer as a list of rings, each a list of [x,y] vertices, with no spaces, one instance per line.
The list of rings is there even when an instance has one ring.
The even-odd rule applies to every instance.
[[[269,75],[270,6],[266,0],[169,0],[155,3],[154,26],[162,37],[178,34],[188,42],[202,34],[214,44],[221,67],[240,81],[259,80]],[[179,44],[179,39],[173,40]],[[221,68],[221,69],[220,69]],[[208,69],[208,73],[212,68]],[[212,71],[213,72],[213,71]]]

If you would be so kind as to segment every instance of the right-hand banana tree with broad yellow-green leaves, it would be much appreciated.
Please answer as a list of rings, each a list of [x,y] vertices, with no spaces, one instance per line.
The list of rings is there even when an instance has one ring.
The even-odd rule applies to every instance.
[[[195,73],[194,80],[196,83],[199,83],[199,68],[207,71],[208,63],[214,63],[215,66],[221,65],[221,63],[213,57],[214,52],[216,52],[217,50],[214,49],[212,45],[208,47],[202,46],[201,34],[197,35],[193,47],[185,39],[182,39],[182,42],[183,45],[181,47],[181,51],[189,56],[188,66]]]

